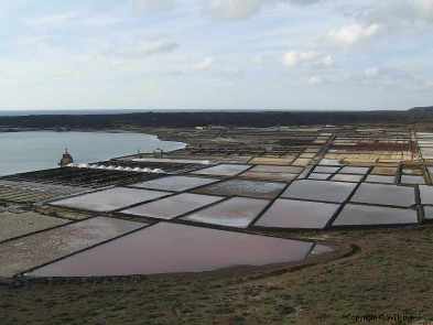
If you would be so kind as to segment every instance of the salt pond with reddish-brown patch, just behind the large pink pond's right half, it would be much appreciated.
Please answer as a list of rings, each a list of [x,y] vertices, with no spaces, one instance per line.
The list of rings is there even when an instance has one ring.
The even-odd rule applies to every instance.
[[[182,217],[184,220],[247,228],[269,204],[267,199],[232,197],[212,207]]]

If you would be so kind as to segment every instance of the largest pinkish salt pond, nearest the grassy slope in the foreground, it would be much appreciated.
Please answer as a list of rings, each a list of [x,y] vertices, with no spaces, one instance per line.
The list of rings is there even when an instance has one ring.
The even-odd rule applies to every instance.
[[[302,261],[312,247],[306,241],[159,223],[26,275],[102,277],[258,267]]]

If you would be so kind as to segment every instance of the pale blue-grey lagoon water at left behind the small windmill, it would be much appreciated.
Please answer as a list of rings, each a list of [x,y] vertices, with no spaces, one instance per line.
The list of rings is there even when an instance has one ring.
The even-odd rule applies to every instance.
[[[65,148],[74,162],[87,163],[155,149],[171,151],[184,143],[155,136],[118,132],[0,132],[0,175],[56,167]]]

